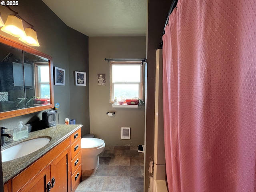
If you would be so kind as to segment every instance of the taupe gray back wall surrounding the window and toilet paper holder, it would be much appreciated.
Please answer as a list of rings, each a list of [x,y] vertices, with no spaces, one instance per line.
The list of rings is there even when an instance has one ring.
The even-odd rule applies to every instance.
[[[110,145],[144,144],[144,108],[112,108],[110,64],[105,58],[145,58],[146,37],[89,37],[90,133]],[[106,74],[98,86],[97,74]],[[108,116],[106,112],[115,112]],[[121,127],[131,128],[131,139],[121,139]]]

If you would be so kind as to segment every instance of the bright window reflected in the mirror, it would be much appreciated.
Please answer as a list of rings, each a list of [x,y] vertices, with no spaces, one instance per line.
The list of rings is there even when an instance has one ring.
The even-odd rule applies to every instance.
[[[50,76],[48,63],[35,63],[36,95],[40,98],[50,98]]]

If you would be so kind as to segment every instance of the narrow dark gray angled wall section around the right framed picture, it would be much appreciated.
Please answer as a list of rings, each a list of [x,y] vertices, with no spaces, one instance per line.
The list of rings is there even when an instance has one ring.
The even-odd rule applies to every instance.
[[[70,115],[76,124],[82,124],[82,135],[90,132],[89,118],[89,65],[88,37],[69,28],[69,76],[70,76]],[[86,72],[86,86],[76,86],[75,72]]]

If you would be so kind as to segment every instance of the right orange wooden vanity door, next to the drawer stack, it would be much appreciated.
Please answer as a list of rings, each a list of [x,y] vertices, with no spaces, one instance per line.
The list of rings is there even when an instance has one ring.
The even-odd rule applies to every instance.
[[[52,192],[68,192],[70,186],[70,148],[64,150],[51,164]]]

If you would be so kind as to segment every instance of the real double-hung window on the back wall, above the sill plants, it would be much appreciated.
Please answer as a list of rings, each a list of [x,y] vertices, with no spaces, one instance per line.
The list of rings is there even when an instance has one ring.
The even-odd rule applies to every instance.
[[[141,62],[110,62],[110,102],[142,98],[142,79]]]

